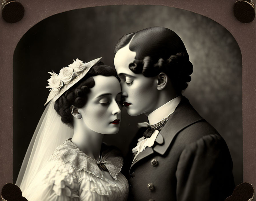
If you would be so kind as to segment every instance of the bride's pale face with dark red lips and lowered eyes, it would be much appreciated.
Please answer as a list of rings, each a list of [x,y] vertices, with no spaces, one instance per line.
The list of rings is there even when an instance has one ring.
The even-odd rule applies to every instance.
[[[90,89],[88,99],[78,112],[91,130],[102,134],[115,134],[121,120],[121,87],[114,76],[93,76],[95,86]]]

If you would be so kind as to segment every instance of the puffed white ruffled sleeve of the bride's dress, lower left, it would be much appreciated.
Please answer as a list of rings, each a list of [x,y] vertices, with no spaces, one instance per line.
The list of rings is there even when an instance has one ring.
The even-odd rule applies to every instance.
[[[78,190],[79,182],[74,168],[56,159],[47,162],[24,193],[28,200],[69,200],[79,197]]]

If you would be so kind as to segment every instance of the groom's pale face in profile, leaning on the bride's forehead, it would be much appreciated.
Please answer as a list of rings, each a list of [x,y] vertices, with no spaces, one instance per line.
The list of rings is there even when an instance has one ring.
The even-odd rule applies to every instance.
[[[136,52],[131,51],[128,44],[119,49],[114,58],[115,69],[121,79],[124,104],[131,116],[153,112],[159,95],[156,77],[145,77],[129,69],[129,64],[133,63],[135,56]]]

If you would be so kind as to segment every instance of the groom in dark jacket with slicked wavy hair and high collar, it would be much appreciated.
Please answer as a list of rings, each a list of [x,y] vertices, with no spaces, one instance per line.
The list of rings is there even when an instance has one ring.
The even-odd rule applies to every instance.
[[[130,200],[225,200],[235,188],[232,159],[181,95],[193,65],[180,37],[151,27],[121,37],[114,52],[128,114],[148,117],[132,145]]]

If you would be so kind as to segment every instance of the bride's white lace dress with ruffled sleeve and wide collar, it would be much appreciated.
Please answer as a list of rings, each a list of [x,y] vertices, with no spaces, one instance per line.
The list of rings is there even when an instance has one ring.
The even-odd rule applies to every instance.
[[[66,140],[56,148],[23,196],[29,201],[127,200],[128,182],[120,173],[123,158],[113,147],[103,144],[102,150],[101,160],[97,161]],[[112,180],[104,177],[102,166]]]

